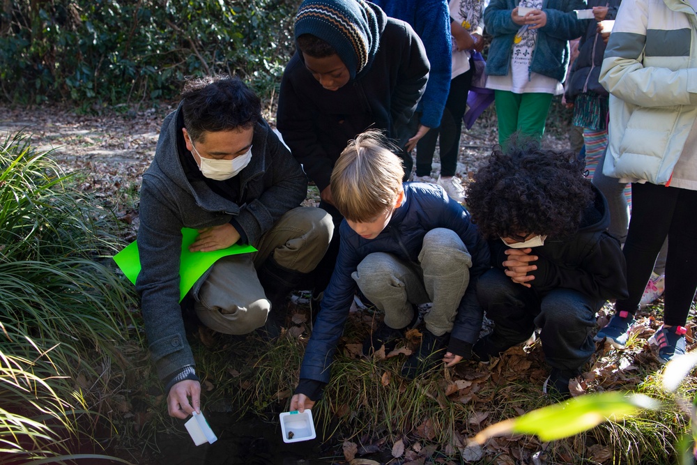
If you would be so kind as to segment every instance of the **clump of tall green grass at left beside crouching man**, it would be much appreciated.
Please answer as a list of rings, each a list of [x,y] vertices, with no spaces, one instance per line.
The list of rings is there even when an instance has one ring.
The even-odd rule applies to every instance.
[[[89,463],[128,387],[112,370],[136,306],[107,259],[116,222],[47,155],[0,142],[0,464]]]

